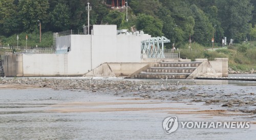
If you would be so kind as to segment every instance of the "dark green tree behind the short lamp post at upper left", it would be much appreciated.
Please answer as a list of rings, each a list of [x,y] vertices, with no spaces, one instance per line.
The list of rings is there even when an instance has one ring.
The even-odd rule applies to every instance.
[[[49,22],[49,3],[47,0],[21,0],[18,4],[19,19],[24,31],[33,31],[40,20],[42,29]]]

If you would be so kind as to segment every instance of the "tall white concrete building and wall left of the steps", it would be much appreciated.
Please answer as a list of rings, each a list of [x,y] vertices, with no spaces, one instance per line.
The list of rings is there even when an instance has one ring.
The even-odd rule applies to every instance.
[[[6,76],[82,76],[103,63],[140,63],[141,41],[149,38],[117,34],[116,25],[93,25],[91,35],[57,37],[54,54],[10,53],[2,63]]]

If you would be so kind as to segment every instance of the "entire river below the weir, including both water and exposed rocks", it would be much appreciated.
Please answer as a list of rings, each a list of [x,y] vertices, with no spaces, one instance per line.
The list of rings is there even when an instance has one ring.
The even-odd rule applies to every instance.
[[[126,82],[121,89],[129,90],[97,89],[102,80],[105,85]],[[146,86],[147,80],[95,79],[96,86],[90,85],[91,90],[56,88],[48,86],[53,85],[49,81],[35,86],[0,83],[0,139],[256,137],[255,81],[196,80],[194,84],[193,80],[180,80],[180,85],[175,86],[171,84],[177,82],[174,80],[156,80]],[[129,88],[130,81],[136,87]],[[144,85],[138,91],[141,82]],[[172,116],[178,118],[179,126],[175,132],[166,134],[162,123]],[[189,129],[182,128],[181,122],[250,122],[250,127]]]

